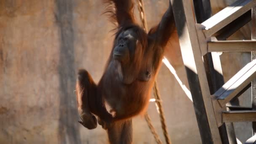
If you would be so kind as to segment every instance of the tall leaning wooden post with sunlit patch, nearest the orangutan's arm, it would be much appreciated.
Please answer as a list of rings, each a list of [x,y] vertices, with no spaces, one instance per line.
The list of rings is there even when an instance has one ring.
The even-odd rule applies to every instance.
[[[171,3],[202,143],[221,144],[191,3],[188,0],[171,0]]]

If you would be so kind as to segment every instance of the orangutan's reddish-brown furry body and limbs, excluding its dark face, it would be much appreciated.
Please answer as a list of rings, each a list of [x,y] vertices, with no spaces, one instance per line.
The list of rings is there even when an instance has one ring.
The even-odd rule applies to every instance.
[[[104,1],[108,4],[106,13],[117,24],[114,45],[98,85],[86,70],[78,72],[77,107],[82,119],[80,123],[86,128],[96,128],[96,115],[98,123],[107,129],[110,143],[130,144],[131,118],[147,109],[165,45],[175,27],[174,19],[170,4],[160,23],[147,34],[135,23],[132,0]],[[129,60],[123,64],[113,58],[113,52],[120,43],[117,37],[127,29],[138,39],[135,48],[129,47],[133,53],[129,52]]]

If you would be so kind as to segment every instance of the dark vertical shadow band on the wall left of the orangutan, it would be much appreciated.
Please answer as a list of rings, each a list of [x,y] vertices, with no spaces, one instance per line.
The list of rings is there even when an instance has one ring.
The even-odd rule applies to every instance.
[[[80,144],[80,133],[75,102],[75,53],[73,31],[73,2],[56,0],[56,23],[59,26],[60,59],[59,59],[59,140],[61,144]]]

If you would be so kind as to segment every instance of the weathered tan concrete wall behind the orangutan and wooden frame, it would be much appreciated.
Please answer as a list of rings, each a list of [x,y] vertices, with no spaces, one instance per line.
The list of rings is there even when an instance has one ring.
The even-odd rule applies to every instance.
[[[217,1],[212,2],[213,12],[227,4]],[[167,9],[168,0],[144,3],[152,27]],[[101,0],[0,1],[0,144],[107,143],[101,127],[87,130],[77,123],[74,93],[77,69],[87,69],[98,82],[109,56],[114,33],[103,11]],[[245,27],[234,37],[243,39],[249,34]],[[177,41],[170,42],[166,57],[188,87]],[[250,55],[224,53],[221,59],[228,80],[250,61]],[[166,66],[157,80],[173,144],[200,144],[192,101]],[[153,102],[149,115],[164,141]],[[245,141],[250,137],[250,123],[240,125],[237,130],[245,130],[236,132]],[[155,143],[142,117],[134,119],[133,130],[135,144]]]

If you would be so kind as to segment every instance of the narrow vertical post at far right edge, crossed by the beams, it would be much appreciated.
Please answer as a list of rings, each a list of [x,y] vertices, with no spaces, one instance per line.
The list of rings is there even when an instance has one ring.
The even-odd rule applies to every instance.
[[[252,8],[251,15],[252,27],[251,27],[251,40],[256,40],[256,7]],[[256,51],[251,52],[251,59],[256,59]],[[251,82],[251,96],[252,96],[252,110],[256,110],[256,80]],[[256,134],[256,122],[253,124],[253,135]]]

